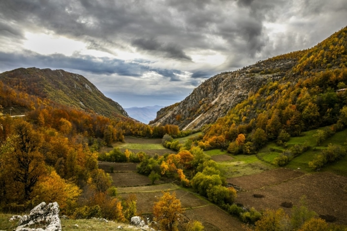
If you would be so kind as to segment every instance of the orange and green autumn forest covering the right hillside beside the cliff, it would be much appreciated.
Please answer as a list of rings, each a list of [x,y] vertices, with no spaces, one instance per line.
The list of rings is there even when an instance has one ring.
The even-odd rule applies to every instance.
[[[259,90],[206,128],[205,144],[214,147],[246,137],[242,152],[254,152],[266,140],[298,136],[302,131],[347,125],[347,28],[305,52],[283,77],[269,79]],[[291,54],[285,55],[290,56]],[[278,57],[271,58],[277,59]],[[232,143],[230,151],[240,151]]]

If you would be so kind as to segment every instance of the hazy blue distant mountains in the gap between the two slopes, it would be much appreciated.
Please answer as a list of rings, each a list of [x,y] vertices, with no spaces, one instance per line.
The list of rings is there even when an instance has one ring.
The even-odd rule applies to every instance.
[[[151,120],[154,120],[157,117],[157,112],[162,109],[163,106],[147,106],[143,108],[132,107],[125,108],[126,113],[138,121],[148,124]]]

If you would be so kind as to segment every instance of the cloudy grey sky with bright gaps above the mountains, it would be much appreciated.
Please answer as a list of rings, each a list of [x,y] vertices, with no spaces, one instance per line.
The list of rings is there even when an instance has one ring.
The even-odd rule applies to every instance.
[[[124,108],[167,106],[346,26],[346,0],[0,0],[0,72],[64,69]]]

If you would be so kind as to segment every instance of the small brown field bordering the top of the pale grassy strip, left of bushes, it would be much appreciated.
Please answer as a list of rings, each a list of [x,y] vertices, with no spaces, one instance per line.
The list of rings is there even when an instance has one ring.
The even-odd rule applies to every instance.
[[[116,187],[142,186],[151,184],[150,178],[139,173],[109,173]]]

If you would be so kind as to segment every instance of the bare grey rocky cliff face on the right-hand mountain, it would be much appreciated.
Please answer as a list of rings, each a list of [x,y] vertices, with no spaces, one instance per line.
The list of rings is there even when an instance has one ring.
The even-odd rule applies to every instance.
[[[180,103],[158,111],[150,124],[176,124],[181,130],[194,130],[214,123],[267,81],[283,77],[296,62],[297,58],[288,57],[267,59],[241,70],[218,74]]]

